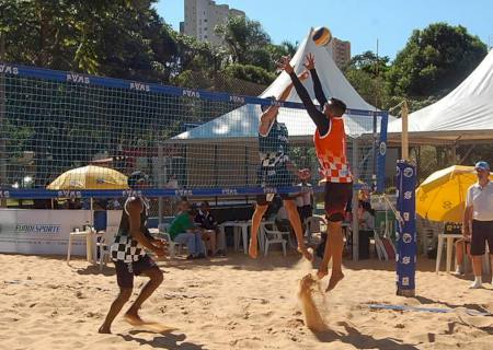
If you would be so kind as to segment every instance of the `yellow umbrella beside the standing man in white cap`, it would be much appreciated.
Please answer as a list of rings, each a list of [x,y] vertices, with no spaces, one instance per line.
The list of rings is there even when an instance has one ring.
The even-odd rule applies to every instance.
[[[467,190],[477,182],[473,166],[452,165],[433,173],[416,189],[416,212],[433,221],[462,222]]]

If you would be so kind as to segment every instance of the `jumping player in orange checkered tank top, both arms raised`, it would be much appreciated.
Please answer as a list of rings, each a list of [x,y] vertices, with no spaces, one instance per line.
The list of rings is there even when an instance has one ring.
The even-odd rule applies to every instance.
[[[328,266],[332,257],[332,275],[326,288],[326,291],[330,291],[344,278],[342,272],[342,253],[344,247],[342,221],[344,220],[347,201],[353,191],[353,178],[346,158],[346,133],[342,118],[346,112],[346,105],[336,98],[329,101],[325,98],[322,84],[314,68],[313,55],[307,55],[305,67],[311,73],[314,94],[320,106],[323,106],[323,112],[320,112],[313,105],[307,90],[289,63],[289,57],[283,57],[280,67],[291,78],[296,92],[303,102],[309,116],[317,125],[313,142],[325,182],[324,200],[329,220],[329,244],[325,245],[322,265],[317,275],[320,279],[328,275]]]

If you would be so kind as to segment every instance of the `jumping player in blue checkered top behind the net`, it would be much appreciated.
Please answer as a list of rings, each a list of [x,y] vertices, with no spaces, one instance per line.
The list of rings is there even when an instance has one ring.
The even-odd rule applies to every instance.
[[[308,72],[302,73],[299,79],[308,78]],[[297,77],[298,79],[298,77]],[[293,84],[289,84],[280,94],[278,101],[285,101],[291,92]],[[293,186],[296,176],[307,178],[310,176],[309,170],[297,171],[288,156],[289,141],[288,130],[283,122],[277,121],[279,106],[262,106],[262,116],[259,125],[259,155],[261,165],[259,166],[259,182],[262,187],[286,187]],[[311,260],[312,255],[307,250],[303,241],[303,231],[299,219],[295,198],[288,194],[282,194],[283,203],[288,213],[289,221],[298,240],[298,252],[307,259]],[[274,195],[261,195],[256,198],[256,207],[252,217],[252,237],[250,240],[249,254],[252,258],[259,255],[259,228],[262,217],[273,200]]]

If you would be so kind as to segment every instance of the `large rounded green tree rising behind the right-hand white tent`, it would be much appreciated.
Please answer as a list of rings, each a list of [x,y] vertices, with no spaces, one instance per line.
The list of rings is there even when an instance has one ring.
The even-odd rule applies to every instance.
[[[388,72],[391,95],[443,95],[486,55],[486,46],[463,26],[436,23],[411,35]]]

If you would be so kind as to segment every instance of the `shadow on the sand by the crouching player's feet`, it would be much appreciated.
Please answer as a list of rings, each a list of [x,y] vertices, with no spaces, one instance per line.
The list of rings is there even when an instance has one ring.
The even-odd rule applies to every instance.
[[[170,350],[205,350],[204,346],[185,341],[186,336],[184,334],[159,334],[151,340],[142,339],[137,337],[138,334],[141,332],[151,332],[147,330],[131,330],[128,335],[122,335],[119,334],[124,340],[126,341],[136,341],[141,346],[150,346],[152,348],[159,348],[159,349],[170,349]]]

